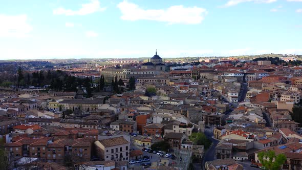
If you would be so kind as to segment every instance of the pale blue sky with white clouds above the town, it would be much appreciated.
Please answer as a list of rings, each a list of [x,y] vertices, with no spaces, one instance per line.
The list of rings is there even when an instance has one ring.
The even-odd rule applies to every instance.
[[[0,4],[0,59],[302,54],[302,0]]]

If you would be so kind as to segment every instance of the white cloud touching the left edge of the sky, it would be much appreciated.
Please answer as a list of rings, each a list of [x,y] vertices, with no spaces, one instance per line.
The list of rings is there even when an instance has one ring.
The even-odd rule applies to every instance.
[[[32,31],[27,15],[1,15],[0,37],[26,37]]]

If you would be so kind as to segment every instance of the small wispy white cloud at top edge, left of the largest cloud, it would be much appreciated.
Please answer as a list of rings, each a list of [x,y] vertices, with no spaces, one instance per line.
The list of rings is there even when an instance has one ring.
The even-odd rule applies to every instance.
[[[87,15],[95,12],[104,11],[106,8],[101,8],[98,0],[91,0],[89,4],[82,4],[82,8],[77,11],[65,8],[57,8],[53,10],[55,15]]]

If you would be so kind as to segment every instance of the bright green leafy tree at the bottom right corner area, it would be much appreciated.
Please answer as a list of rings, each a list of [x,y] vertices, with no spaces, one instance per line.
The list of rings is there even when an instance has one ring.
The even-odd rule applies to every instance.
[[[286,156],[284,154],[275,155],[274,151],[267,151],[258,153],[258,159],[266,169],[278,170],[285,163]]]

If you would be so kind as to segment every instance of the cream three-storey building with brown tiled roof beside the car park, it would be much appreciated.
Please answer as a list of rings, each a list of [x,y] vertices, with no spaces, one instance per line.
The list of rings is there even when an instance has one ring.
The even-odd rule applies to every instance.
[[[101,160],[129,160],[130,142],[124,137],[115,137],[94,142],[96,153]]]

